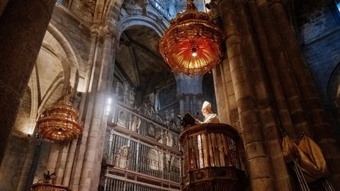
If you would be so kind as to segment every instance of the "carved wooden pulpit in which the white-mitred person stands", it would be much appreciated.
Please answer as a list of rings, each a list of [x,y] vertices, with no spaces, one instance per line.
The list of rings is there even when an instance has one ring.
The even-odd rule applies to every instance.
[[[220,123],[194,125],[179,139],[184,191],[244,190],[246,175],[237,151],[237,131]]]

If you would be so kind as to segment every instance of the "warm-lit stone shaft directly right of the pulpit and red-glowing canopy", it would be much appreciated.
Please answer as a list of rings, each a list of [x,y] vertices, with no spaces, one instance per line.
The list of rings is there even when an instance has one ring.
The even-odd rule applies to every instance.
[[[252,190],[274,190],[271,162],[266,154],[266,145],[254,90],[249,78],[248,63],[244,57],[242,35],[237,25],[234,3],[223,0],[219,4],[219,9],[226,34],[227,57],[232,74],[251,187]]]

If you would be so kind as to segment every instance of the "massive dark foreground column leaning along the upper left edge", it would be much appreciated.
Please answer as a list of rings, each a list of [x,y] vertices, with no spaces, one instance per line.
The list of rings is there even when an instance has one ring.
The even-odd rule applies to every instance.
[[[56,0],[11,0],[0,18],[0,161]],[[6,4],[6,1],[1,1]],[[1,5],[2,7],[2,5]]]

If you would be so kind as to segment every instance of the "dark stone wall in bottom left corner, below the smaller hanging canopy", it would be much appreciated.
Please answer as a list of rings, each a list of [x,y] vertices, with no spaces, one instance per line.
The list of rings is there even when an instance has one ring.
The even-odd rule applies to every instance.
[[[5,157],[0,167],[0,190],[29,190],[36,180],[45,172],[45,156],[50,153],[50,144],[34,138],[11,136]]]

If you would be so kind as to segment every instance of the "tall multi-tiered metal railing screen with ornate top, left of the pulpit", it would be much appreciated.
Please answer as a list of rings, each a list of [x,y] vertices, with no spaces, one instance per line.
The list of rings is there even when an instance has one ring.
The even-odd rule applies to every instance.
[[[176,124],[165,122],[152,108],[136,110],[127,101],[115,100],[110,106],[103,151],[102,172],[106,173],[99,190],[180,190]],[[127,175],[135,180],[129,182]],[[146,180],[137,180],[141,177]]]

